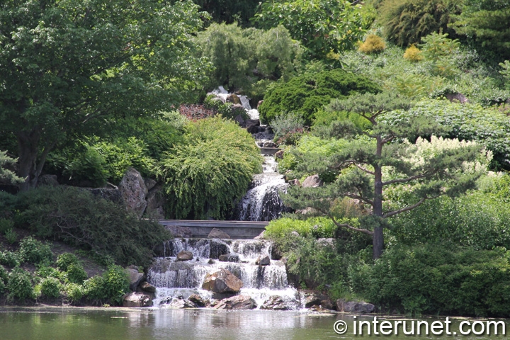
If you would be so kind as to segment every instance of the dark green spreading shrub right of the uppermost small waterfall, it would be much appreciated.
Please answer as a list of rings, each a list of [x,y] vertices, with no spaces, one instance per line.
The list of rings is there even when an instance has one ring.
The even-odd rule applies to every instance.
[[[259,107],[261,120],[271,122],[282,113],[293,112],[310,125],[314,113],[331,99],[344,98],[353,92],[378,92],[379,86],[367,78],[342,69],[302,74],[270,89]]]

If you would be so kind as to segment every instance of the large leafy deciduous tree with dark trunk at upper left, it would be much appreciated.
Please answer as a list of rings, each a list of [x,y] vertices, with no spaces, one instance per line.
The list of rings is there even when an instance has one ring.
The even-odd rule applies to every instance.
[[[47,154],[101,119],[169,108],[198,86],[191,1],[3,1],[0,132],[16,138],[21,189]]]

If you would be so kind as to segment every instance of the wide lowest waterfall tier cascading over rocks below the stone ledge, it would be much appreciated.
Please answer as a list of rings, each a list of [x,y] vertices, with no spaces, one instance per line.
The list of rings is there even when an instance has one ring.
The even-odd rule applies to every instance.
[[[191,261],[176,261],[179,251],[193,253]],[[187,299],[198,294],[204,300],[215,297],[202,289],[205,276],[225,268],[242,280],[241,295],[249,295],[258,308],[278,296],[285,309],[300,307],[300,295],[289,288],[285,265],[271,260],[268,266],[256,265],[256,259],[271,257],[271,242],[256,239],[173,239],[164,244],[164,256],[149,268],[147,280],[157,288],[154,306],[169,305],[174,299]],[[237,262],[222,262],[217,258],[229,254]],[[215,259],[212,259],[215,258]],[[281,307],[281,306],[280,306]]]

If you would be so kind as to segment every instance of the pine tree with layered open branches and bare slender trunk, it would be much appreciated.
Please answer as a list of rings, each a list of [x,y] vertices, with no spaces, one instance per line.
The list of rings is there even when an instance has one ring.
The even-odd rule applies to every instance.
[[[483,166],[475,165],[487,163],[482,147],[475,142],[431,137],[445,133],[447,128],[425,118],[384,119],[387,112],[409,108],[409,101],[387,93],[356,94],[332,102],[330,110],[361,115],[370,122],[371,128],[362,130],[344,120],[316,131],[323,137],[344,138],[346,147],[328,159],[297,154],[302,157],[297,172],[335,171],[339,176],[318,188],[293,186],[285,196],[285,204],[295,209],[314,208],[331,217],[339,228],[370,234],[373,257],[378,259],[384,248],[382,231],[389,226],[388,217],[417,208],[426,200],[458,196],[473,188],[483,171]],[[427,140],[416,140],[419,136],[429,136],[436,145],[443,145],[433,147]],[[385,204],[385,189],[395,186],[408,186],[412,203],[392,210]],[[338,209],[339,203],[349,204],[349,200],[364,205],[363,212],[348,207]],[[339,214],[338,210],[344,212]],[[359,227],[343,217],[358,217]]]

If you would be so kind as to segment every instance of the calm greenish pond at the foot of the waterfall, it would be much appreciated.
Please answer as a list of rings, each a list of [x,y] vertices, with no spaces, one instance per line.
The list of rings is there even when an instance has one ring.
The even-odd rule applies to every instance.
[[[350,314],[310,314],[305,311],[263,311],[263,310],[171,310],[171,309],[125,309],[125,308],[0,308],[0,339],[1,340],[162,340],[162,339],[360,339],[382,337],[384,339],[409,338],[402,332],[404,318],[377,316],[377,327],[383,321],[397,325],[398,335],[375,336],[374,316],[355,316]],[[446,317],[421,318],[429,325],[429,336],[424,335],[426,327],[421,325],[421,335],[411,336],[421,339],[506,339],[502,334],[508,328],[509,320],[499,324],[499,336],[494,336],[494,325],[498,320],[462,319],[455,318],[449,324],[450,333],[458,331],[460,323],[463,331],[472,329],[481,333],[481,327],[487,322],[494,322],[489,336],[487,332],[476,335],[456,336],[446,335]],[[451,320],[451,318],[450,318]],[[338,322],[344,321],[348,330],[345,334],[336,334],[342,330]],[[363,334],[354,335],[354,322],[359,331],[358,324],[362,321],[370,323],[372,335],[368,336],[368,322],[363,324]],[[411,330],[407,319],[407,331]],[[433,322],[435,327],[431,328]],[[441,331],[439,324],[443,324],[443,335],[432,334],[432,330]],[[388,331],[388,326],[376,328],[378,331]],[[416,329],[415,329],[416,331]],[[380,333],[379,333],[380,334]]]

